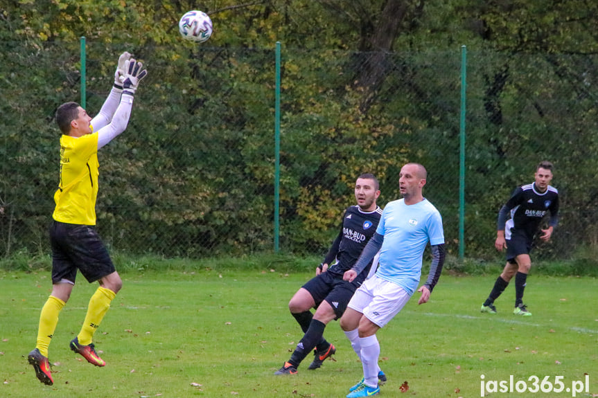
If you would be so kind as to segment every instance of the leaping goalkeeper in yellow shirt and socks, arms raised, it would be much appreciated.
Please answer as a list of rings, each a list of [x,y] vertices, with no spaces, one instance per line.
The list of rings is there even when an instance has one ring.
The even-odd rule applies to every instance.
[[[98,150],[127,127],[135,91],[146,75],[141,62],[125,52],[118,58],[114,86],[98,116],[92,119],[76,102],[64,103],[56,111],[62,137],[60,183],[54,195],[56,206],[50,227],[53,287],[39,316],[35,350],[28,355],[37,379],[49,386],[54,381],[48,347],[60,310],[71,296],[77,270],[89,283],[98,281],[100,286],[89,300],[85,322],[70,348],[89,363],[106,365],[91,341],[123,282],[95,228]]]

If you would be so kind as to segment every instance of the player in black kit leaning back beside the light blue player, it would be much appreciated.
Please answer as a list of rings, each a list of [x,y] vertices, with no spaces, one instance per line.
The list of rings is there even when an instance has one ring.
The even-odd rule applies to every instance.
[[[382,215],[382,209],[376,205],[378,196],[378,179],[373,174],[361,174],[355,182],[357,205],[344,212],[340,233],[324,262],[317,267],[315,278],[304,284],[289,302],[291,314],[301,326],[304,336],[290,359],[274,374],[297,373],[301,361],[314,349],[315,359],[309,369],[319,368],[326,358],[335,353],[335,346],[324,339],[324,328],[328,322],[342,316],[353,293],[369,273],[371,263],[353,282],[342,279],[344,272],[351,269],[376,232]],[[312,308],[316,309],[315,314],[310,311]],[[382,372],[380,378],[385,379]]]

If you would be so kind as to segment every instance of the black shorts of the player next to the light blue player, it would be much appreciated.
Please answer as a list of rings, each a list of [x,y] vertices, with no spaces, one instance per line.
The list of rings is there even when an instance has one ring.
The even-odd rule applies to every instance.
[[[309,291],[313,297],[316,307],[324,300],[331,305],[336,319],[344,314],[346,306],[358,287],[355,282],[342,280],[342,276],[335,276],[331,272],[321,273],[303,285],[303,288]]]

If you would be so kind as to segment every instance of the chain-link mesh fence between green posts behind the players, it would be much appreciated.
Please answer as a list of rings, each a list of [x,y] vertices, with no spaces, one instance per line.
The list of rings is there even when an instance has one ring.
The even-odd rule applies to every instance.
[[[0,43],[0,255],[49,252],[62,102],[80,98],[78,43]],[[125,48],[87,43],[87,110],[100,109]],[[99,152],[98,230],[113,249],[201,257],[271,251],[274,48],[126,48],[146,62],[127,130]],[[498,210],[535,166],[555,166],[561,224],[541,253],[596,250],[596,57],[471,52],[465,255],[495,256]],[[459,237],[461,53],[283,48],[280,247],[323,254],[362,172],[397,199],[407,161]]]

